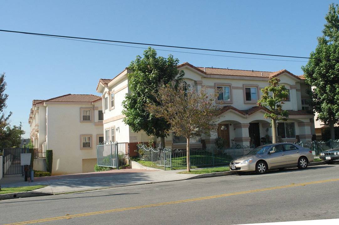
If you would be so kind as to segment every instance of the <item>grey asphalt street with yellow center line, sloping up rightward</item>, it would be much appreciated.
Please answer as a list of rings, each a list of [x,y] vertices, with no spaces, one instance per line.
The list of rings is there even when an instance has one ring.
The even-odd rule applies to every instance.
[[[339,165],[319,165],[264,175],[8,199],[0,202],[0,224],[253,224],[338,219],[338,169]]]

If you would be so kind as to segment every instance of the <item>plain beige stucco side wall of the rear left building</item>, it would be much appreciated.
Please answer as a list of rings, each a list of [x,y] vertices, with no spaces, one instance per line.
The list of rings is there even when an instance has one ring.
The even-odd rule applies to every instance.
[[[98,116],[97,107],[101,110],[101,101],[93,104],[47,104],[47,149],[53,150],[52,175],[74,174],[83,172],[94,172],[93,163],[97,158],[96,145],[97,134],[103,133],[102,125],[92,122],[81,123],[80,108],[93,108],[92,112]],[[90,149],[80,149],[80,135],[92,135]],[[83,159],[85,165],[83,165]],[[93,166],[93,167],[92,167]]]

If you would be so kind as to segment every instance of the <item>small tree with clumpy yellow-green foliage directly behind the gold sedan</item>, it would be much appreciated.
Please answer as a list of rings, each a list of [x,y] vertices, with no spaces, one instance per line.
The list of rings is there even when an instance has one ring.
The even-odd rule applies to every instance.
[[[280,79],[271,77],[268,80],[270,85],[261,89],[263,95],[258,100],[258,106],[266,108],[268,113],[264,114],[264,118],[271,118],[272,125],[272,143],[277,143],[277,121],[287,121],[288,111],[282,110],[282,105],[288,97],[288,91],[284,85],[279,85]]]

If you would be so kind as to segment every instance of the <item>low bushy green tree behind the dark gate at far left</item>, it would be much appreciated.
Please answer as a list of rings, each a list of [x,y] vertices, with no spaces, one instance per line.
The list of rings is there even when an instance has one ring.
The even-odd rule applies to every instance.
[[[0,136],[1,148],[19,147],[21,143],[21,135],[25,134],[24,130],[21,130],[18,126],[6,126]]]

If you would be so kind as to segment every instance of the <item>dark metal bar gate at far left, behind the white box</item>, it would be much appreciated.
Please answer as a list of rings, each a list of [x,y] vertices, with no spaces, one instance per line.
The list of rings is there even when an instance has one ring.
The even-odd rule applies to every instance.
[[[4,148],[3,149],[3,175],[23,174],[21,166],[21,153],[23,148]]]

